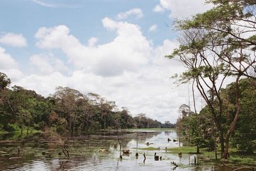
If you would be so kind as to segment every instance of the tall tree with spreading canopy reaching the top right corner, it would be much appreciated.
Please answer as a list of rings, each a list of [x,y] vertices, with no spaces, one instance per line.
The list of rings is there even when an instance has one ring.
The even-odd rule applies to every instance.
[[[229,75],[236,76],[236,116],[228,128],[225,139],[223,133],[221,133],[222,158],[227,158],[229,138],[234,132],[237,119],[241,112],[238,82],[243,76],[255,79],[253,73],[256,71],[254,52],[256,45],[256,3],[255,1],[227,0],[210,0],[208,3],[215,4],[214,8],[205,13],[195,15],[191,20],[181,20],[177,22],[176,28],[184,33],[183,40],[185,41],[181,43],[182,45],[179,50],[175,50],[173,55],[180,56],[180,52],[183,52],[183,54],[186,52],[186,57],[180,57],[180,59],[182,60],[182,58],[184,58],[185,60],[182,60],[182,63],[185,63],[190,69],[193,68],[193,65],[200,57],[204,57],[204,61],[211,61],[211,59],[214,58],[214,67],[211,67],[212,64],[209,65],[209,63],[203,63],[204,66],[201,67],[202,69],[205,68],[205,66],[210,66],[210,68],[206,68],[207,70],[214,68],[215,73],[218,73],[218,77],[212,77],[214,81],[216,78],[220,78],[221,75],[223,78]],[[189,54],[194,57],[189,58]],[[197,68],[200,67],[198,66]],[[192,70],[183,76],[191,76],[191,73],[193,73],[191,71]],[[223,80],[220,81],[220,85],[222,85],[222,82]],[[216,85],[216,82],[214,84]],[[209,87],[209,89],[211,91],[211,87]],[[212,87],[212,93],[216,93],[215,95],[219,99],[219,112],[222,113],[223,104],[221,104],[222,99],[219,96],[220,91],[218,91],[217,94],[216,90],[213,91],[213,89],[214,86]],[[202,91],[201,94],[204,94],[204,92]],[[204,99],[206,102],[208,101],[205,97]],[[209,101],[207,105],[211,107]],[[212,110],[214,110],[214,108],[212,108]],[[222,129],[213,111],[212,114],[214,115],[214,120],[219,130]],[[223,144],[224,140],[225,148]]]

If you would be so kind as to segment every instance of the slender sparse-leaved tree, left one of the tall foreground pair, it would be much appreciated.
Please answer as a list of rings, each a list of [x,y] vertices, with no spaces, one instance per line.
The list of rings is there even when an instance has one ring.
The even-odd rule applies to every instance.
[[[179,82],[182,84],[191,81],[196,82],[198,91],[211,108],[212,117],[214,117],[220,131],[221,152],[224,152],[224,130],[223,123],[221,123],[223,100],[220,96],[220,90],[230,72],[229,66],[219,61],[215,54],[209,56],[210,53],[206,46],[209,41],[205,40],[204,31],[200,29],[184,30],[180,34],[179,40],[180,47],[167,57],[171,59],[176,56],[179,57],[187,69],[180,75]]]

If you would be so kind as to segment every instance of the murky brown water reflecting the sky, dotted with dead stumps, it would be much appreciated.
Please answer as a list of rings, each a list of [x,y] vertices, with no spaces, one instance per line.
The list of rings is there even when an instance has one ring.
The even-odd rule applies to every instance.
[[[39,134],[22,140],[18,135],[0,135],[0,170],[228,170],[216,166],[215,163],[195,165],[194,154],[182,154],[179,157],[178,154],[166,152],[166,147],[179,147],[177,142],[173,142],[173,139],[177,140],[177,133],[173,130],[122,131],[122,148],[131,152],[124,154],[122,160],[119,158],[119,146],[114,147],[117,143],[116,132],[65,137],[68,139],[70,158],[66,158],[63,153],[58,155],[58,152],[62,152],[60,147],[47,142]],[[168,138],[172,141],[168,142]],[[154,149],[143,149],[146,147]],[[109,149],[109,152],[100,153],[99,149]],[[45,155],[42,155],[43,151]],[[138,159],[136,152],[139,154]],[[144,152],[146,160],[143,157]],[[162,156],[162,160],[154,160],[155,152],[157,156]],[[171,161],[179,167],[175,168]]]

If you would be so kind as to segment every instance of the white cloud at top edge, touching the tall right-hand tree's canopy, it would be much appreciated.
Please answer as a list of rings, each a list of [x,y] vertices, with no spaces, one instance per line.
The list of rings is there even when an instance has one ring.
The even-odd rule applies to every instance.
[[[205,0],[159,0],[153,11],[171,11],[170,17],[185,19],[212,8],[212,4],[205,4]]]

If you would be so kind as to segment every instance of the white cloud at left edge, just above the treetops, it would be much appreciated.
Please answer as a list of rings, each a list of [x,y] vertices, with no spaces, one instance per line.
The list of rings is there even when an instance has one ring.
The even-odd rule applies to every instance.
[[[5,49],[2,47],[0,47],[0,71],[6,73],[12,81],[22,77],[18,64],[10,54],[6,54]]]

